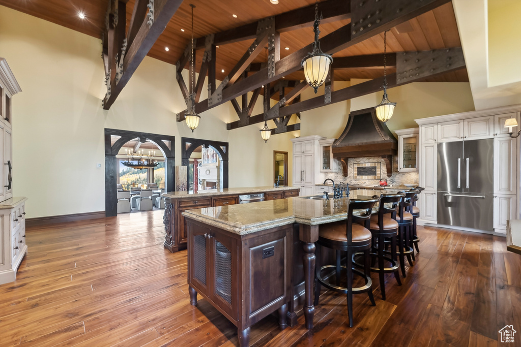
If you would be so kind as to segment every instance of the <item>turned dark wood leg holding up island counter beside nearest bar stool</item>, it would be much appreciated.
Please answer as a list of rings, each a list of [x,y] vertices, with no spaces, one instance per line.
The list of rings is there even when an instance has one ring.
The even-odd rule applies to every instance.
[[[306,300],[304,303],[304,317],[306,329],[313,329],[313,305],[315,284],[315,243],[318,240],[318,225],[300,225],[300,239],[303,241],[304,250],[304,282],[306,288]]]

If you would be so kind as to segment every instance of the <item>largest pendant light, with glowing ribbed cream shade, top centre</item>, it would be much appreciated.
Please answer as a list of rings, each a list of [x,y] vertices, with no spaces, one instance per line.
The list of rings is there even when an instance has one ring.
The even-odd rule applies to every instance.
[[[329,72],[329,66],[333,62],[330,54],[322,52],[320,42],[318,42],[318,24],[320,24],[322,15],[318,16],[318,2],[315,3],[315,23],[313,24],[313,32],[315,33],[315,42],[313,42],[313,52],[302,59],[301,66],[304,69],[304,76],[307,83],[315,89],[317,94],[318,87],[324,84]]]

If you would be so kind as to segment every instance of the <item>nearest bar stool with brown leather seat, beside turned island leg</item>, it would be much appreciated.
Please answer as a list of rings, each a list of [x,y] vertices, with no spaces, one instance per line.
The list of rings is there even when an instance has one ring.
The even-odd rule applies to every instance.
[[[321,224],[318,227],[318,241],[316,248],[316,275],[315,275],[315,305],[318,305],[320,295],[320,286],[324,286],[330,290],[334,290],[343,294],[347,294],[348,301],[348,316],[349,326],[353,327],[353,293],[367,292],[371,303],[376,305],[373,297],[371,286],[373,282],[370,276],[370,256],[369,249],[371,248],[371,232],[359,225],[359,222],[365,222],[369,226],[369,220],[375,203],[379,201],[378,198],[371,198],[367,200],[351,200],[348,209],[348,218],[346,221],[333,222],[328,224]],[[356,211],[353,214],[353,210]],[[345,259],[345,266],[324,265],[320,266],[320,252],[322,247],[327,247],[337,251],[337,260],[340,255],[338,252],[347,252]],[[353,269],[353,254],[356,251],[364,253],[364,272]],[[340,265],[340,264],[338,264]],[[340,267],[345,268],[347,272],[347,286],[340,287]],[[325,269],[335,268],[337,275],[337,284],[330,284],[327,279],[321,277],[322,271]],[[365,280],[365,285],[358,288],[353,288],[353,274],[362,276]]]

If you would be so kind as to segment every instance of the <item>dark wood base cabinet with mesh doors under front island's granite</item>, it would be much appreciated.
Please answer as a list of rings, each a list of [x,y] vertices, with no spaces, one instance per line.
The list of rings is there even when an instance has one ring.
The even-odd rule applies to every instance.
[[[190,218],[186,223],[191,304],[197,304],[197,293],[212,303],[237,326],[241,346],[249,344],[250,326],[276,310],[285,328],[292,225],[241,236]]]

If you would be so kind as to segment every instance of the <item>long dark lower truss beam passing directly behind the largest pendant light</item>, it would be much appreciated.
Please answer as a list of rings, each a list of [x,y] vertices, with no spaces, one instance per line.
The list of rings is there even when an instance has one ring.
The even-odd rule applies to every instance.
[[[336,31],[333,31],[332,33],[322,37],[320,39],[320,46],[324,52],[329,54],[340,52],[345,48],[363,42],[372,36],[380,34],[385,30],[389,30],[400,23],[418,17],[419,15],[448,2],[450,2],[450,0],[424,0],[421,2],[418,2],[417,0],[395,0],[392,2],[392,4],[383,1],[375,3],[366,2],[367,4],[370,3],[373,5],[369,6],[369,8],[364,7],[364,10],[374,11],[375,13],[376,11],[379,11],[378,15],[369,16],[370,21],[374,21],[374,24],[367,22],[369,19],[366,19],[367,15],[365,15],[365,12],[363,12],[365,17],[354,16],[355,10],[357,10],[356,7],[359,3],[353,2],[351,4],[351,20],[353,24],[350,23],[348,25],[344,25],[344,27],[341,27]],[[361,4],[366,3],[362,2]],[[362,25],[356,24],[360,21],[366,26],[363,27]],[[378,21],[378,23],[376,21]],[[355,26],[353,27],[352,25]],[[289,56],[280,59],[275,64],[275,74],[271,74],[271,77],[269,78],[267,77],[268,68],[264,68],[254,73],[253,75],[222,89],[220,101],[213,102],[211,107],[213,108],[224,104],[224,102],[227,102],[232,98],[239,97],[242,94],[252,91],[253,89],[258,88],[266,83],[276,81],[282,78],[282,76],[300,70],[302,59],[305,58],[311,51],[312,44],[309,44],[306,47],[290,54]],[[202,100],[195,105],[195,112],[201,114],[209,108],[208,100]],[[184,120],[184,111],[177,114],[177,121],[180,122],[182,120]]]

